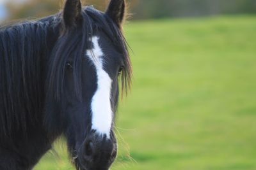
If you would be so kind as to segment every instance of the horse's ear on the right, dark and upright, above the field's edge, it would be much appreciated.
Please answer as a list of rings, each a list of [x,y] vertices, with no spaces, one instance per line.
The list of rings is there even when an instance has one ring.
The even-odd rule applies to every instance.
[[[120,27],[125,17],[125,0],[111,0],[106,14]]]

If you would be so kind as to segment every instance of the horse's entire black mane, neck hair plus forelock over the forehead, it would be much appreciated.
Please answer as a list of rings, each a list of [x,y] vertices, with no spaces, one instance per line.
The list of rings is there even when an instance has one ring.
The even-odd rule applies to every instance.
[[[96,30],[104,31],[124,55],[122,89],[129,87],[131,62],[122,30],[104,13],[83,9],[83,22],[61,30],[61,13],[38,21],[0,28],[0,138],[26,132],[28,124],[44,121],[46,96],[63,97],[65,66],[73,57],[77,97],[81,94],[81,59]]]

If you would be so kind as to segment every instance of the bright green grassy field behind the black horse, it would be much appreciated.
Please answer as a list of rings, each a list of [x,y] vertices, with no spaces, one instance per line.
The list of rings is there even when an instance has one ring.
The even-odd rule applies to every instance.
[[[256,16],[127,24],[132,92],[113,170],[256,169]],[[73,169],[65,145],[35,170]]]

